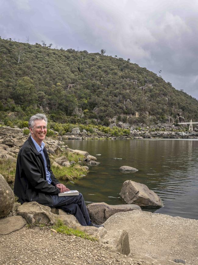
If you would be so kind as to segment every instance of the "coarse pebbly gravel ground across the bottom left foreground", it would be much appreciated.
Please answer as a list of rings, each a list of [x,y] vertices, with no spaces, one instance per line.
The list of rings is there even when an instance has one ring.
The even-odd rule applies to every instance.
[[[151,263],[112,252],[98,242],[56,234],[46,228],[23,227],[21,230],[0,237],[0,264],[149,265]]]

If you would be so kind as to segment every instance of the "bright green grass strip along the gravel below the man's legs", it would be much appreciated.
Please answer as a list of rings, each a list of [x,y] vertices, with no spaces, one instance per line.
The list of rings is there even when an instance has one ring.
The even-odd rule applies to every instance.
[[[53,226],[58,233],[66,234],[66,235],[74,235],[76,237],[81,237],[83,239],[88,239],[91,241],[98,241],[96,237],[92,237],[85,233],[84,231],[80,231],[78,229],[69,228],[68,226],[64,225],[63,221],[58,219],[57,223]]]

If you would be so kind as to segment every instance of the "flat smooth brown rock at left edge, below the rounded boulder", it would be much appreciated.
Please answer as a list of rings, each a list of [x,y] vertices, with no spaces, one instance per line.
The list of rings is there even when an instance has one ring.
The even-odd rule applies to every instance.
[[[26,220],[21,216],[9,216],[0,220],[0,235],[10,234],[26,225]]]

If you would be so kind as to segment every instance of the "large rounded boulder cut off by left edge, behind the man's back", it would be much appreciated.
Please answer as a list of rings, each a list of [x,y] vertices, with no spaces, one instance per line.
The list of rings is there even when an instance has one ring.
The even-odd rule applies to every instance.
[[[0,218],[11,212],[14,202],[15,198],[12,189],[0,174]]]

